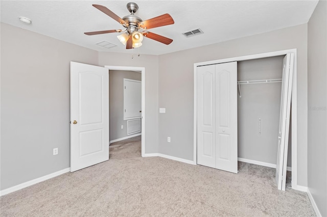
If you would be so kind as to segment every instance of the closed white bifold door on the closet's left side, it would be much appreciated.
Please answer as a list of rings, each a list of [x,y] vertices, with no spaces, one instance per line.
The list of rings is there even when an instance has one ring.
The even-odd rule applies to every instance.
[[[197,163],[237,173],[237,151],[237,62],[198,67]]]

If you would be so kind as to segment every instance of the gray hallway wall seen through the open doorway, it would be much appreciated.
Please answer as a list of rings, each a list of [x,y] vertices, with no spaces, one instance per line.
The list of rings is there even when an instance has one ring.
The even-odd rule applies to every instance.
[[[124,120],[124,78],[141,80],[141,75],[134,71],[109,70],[110,141],[128,136],[127,120]]]

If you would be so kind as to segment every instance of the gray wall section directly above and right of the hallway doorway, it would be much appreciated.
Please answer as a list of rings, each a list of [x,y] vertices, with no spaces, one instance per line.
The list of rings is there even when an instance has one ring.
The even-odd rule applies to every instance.
[[[98,65],[145,67],[145,153],[158,153],[158,56],[137,57],[132,52],[134,49],[130,54],[99,52]]]

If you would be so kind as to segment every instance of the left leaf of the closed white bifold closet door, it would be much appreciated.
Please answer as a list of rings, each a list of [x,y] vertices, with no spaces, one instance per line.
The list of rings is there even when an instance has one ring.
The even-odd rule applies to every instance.
[[[215,66],[202,66],[197,73],[197,163],[216,167]]]

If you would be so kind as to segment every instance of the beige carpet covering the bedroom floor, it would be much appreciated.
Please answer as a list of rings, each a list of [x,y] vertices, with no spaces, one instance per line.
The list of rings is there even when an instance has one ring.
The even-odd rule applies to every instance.
[[[278,191],[274,170],[239,174],[161,157],[141,142],[110,146],[110,159],[1,197],[1,216],[311,216],[306,193]]]

